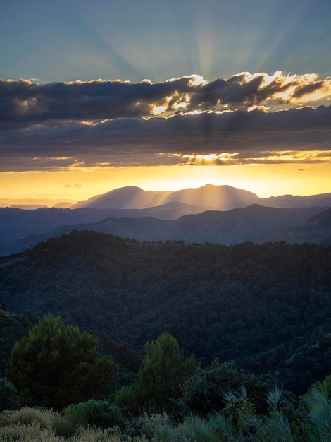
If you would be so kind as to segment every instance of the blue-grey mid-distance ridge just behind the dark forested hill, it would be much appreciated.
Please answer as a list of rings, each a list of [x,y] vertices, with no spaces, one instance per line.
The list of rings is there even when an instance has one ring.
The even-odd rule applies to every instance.
[[[212,242],[225,245],[244,241],[261,243],[269,240],[270,235],[275,232],[307,220],[317,210],[319,209],[277,209],[254,204],[224,212],[206,211],[196,215],[184,215],[177,220],[158,220],[154,217],[118,219],[108,217],[92,224],[65,225],[45,234],[30,235],[17,242],[17,251],[73,230],[93,230],[135,238],[138,241],[180,240],[187,244]]]

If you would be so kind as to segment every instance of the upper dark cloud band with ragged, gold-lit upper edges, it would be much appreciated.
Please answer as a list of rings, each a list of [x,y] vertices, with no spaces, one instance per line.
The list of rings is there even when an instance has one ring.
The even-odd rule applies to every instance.
[[[2,80],[0,128],[245,109],[272,102],[306,102],[307,97],[317,93],[318,97],[331,94],[330,78],[316,80],[314,74],[285,76],[278,72],[273,76],[241,73],[210,82],[199,76],[136,84],[120,80],[48,84]]]

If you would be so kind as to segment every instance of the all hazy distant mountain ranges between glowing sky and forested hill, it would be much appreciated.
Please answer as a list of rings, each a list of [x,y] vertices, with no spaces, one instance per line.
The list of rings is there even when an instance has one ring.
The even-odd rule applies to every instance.
[[[181,191],[127,186],[67,209],[0,208],[0,255],[18,253],[73,229],[139,241],[329,244],[330,208],[331,193],[259,198],[249,191],[211,184]]]

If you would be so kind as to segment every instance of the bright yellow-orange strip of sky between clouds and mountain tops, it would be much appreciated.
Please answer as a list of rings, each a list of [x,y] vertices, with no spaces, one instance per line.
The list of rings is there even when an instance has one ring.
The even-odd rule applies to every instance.
[[[331,165],[90,167],[79,171],[0,173],[1,198],[22,201],[26,198],[81,201],[124,186],[175,191],[205,184],[227,184],[261,198],[330,193]]]

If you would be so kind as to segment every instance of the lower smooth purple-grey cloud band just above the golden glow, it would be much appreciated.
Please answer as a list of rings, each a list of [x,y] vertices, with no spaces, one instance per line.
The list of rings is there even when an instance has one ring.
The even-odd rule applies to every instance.
[[[56,169],[101,164],[168,165],[187,162],[183,155],[210,153],[239,153],[232,160],[244,161],[245,157],[266,157],[275,150],[328,152],[330,141],[331,106],[41,125],[3,131],[0,152],[2,168],[28,164],[32,169]],[[222,157],[216,164],[224,164]]]

